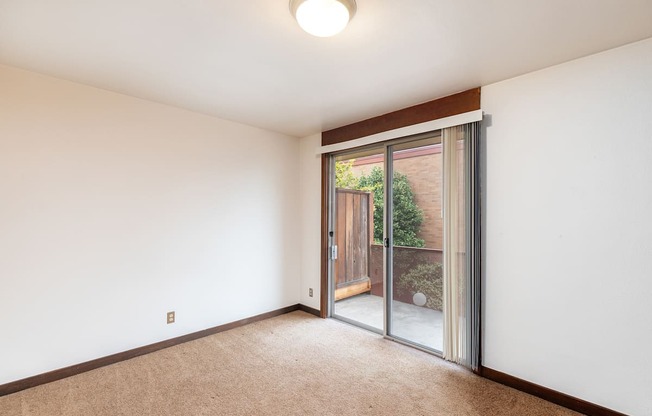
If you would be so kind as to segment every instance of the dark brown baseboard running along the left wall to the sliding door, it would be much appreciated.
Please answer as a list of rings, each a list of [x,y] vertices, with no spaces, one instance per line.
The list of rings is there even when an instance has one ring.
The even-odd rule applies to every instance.
[[[230,322],[228,324],[215,326],[212,328],[193,332],[191,334],[182,335],[180,337],[171,338],[165,341],[156,342],[154,344],[145,345],[143,347],[138,347],[128,351],[119,352],[117,354],[108,355],[106,357],[97,358],[95,360],[86,361],[84,363],[71,365],[70,367],[60,368],[58,370],[49,371],[47,373],[39,374],[36,376],[27,377],[17,381],[12,381],[0,385],[0,397],[12,393],[17,393],[21,390],[29,389],[31,387],[36,387],[42,384],[61,380],[63,378],[71,377],[77,374],[85,373],[87,371],[95,370],[97,368],[115,364],[120,361],[129,360],[131,358],[149,354],[158,350],[162,350],[164,348],[173,347],[175,345],[183,344],[184,342],[193,341],[199,338],[207,337],[209,335],[214,335],[220,332],[228,331],[229,329],[238,328],[254,322],[273,318],[275,316],[284,315],[289,312],[304,310],[306,312],[312,313],[310,311],[305,310],[304,308],[314,311],[314,309],[312,308],[308,308],[307,306],[299,305],[299,304],[286,306],[285,308],[280,308],[274,311],[261,313],[260,315],[240,319],[239,321]],[[317,313],[319,312],[317,311]]]

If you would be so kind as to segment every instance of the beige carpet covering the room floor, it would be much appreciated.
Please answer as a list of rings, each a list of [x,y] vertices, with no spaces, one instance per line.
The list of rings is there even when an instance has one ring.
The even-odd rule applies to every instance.
[[[574,414],[303,312],[0,397],[2,416]]]

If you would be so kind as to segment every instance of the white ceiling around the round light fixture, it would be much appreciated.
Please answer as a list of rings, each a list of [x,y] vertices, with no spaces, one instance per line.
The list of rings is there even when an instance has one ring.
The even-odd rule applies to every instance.
[[[0,63],[307,136],[652,37],[651,0],[0,0]]]

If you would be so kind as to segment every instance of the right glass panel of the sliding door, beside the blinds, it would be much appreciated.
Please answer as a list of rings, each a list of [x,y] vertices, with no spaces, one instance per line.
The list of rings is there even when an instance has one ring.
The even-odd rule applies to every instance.
[[[441,136],[389,146],[388,155],[388,335],[441,352]]]

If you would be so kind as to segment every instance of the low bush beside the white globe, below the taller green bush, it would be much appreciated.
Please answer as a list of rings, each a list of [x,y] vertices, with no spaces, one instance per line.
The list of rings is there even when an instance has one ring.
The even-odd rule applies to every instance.
[[[401,295],[412,297],[421,292],[426,295],[426,307],[441,311],[444,307],[443,265],[441,263],[422,263],[398,278]]]

